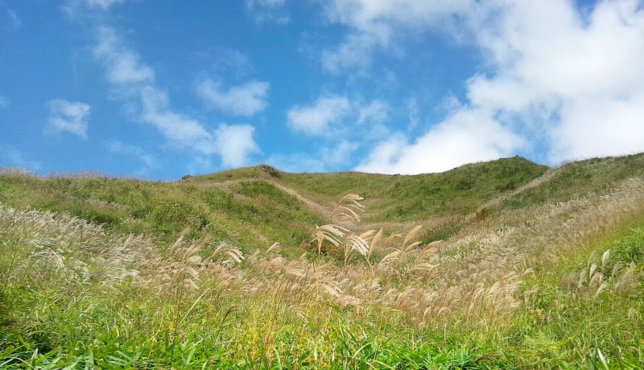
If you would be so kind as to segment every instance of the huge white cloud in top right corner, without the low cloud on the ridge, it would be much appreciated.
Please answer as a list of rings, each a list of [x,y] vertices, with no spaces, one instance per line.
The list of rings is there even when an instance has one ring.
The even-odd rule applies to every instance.
[[[644,9],[604,1],[584,18],[569,2],[497,5],[478,43],[496,67],[468,84],[474,106],[541,117],[553,163],[644,150]],[[490,22],[500,24],[494,27]],[[552,117],[555,117],[554,119]]]

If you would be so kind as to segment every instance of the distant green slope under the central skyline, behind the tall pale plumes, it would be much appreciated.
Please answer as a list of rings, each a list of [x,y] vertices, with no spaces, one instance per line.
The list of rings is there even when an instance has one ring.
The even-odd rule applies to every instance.
[[[365,221],[398,222],[468,214],[486,200],[521,186],[546,170],[545,166],[514,157],[413,176],[344,172],[280,173],[279,178],[271,178],[260,166],[200,176],[191,181],[271,178],[322,204],[332,204],[344,194],[355,193],[366,198],[369,214]]]

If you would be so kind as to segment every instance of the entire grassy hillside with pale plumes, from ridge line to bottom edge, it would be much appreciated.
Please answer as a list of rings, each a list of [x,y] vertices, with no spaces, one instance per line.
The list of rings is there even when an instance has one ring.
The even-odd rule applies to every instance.
[[[0,175],[0,368],[644,364],[644,154]]]

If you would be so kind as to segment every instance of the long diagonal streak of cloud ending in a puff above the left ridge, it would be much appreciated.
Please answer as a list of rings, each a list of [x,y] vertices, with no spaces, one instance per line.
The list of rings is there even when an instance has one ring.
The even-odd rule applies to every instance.
[[[219,155],[225,166],[241,165],[258,150],[250,125],[222,124],[209,130],[199,120],[173,110],[168,93],[156,82],[154,70],[113,28],[99,27],[97,40],[94,56],[102,64],[114,93],[124,104],[134,105],[138,120],[155,127],[175,147],[199,156]]]

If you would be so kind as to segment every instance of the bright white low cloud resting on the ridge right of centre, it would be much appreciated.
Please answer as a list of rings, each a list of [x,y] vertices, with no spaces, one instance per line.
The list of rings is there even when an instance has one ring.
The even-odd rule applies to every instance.
[[[440,172],[507,156],[523,144],[521,137],[484,112],[462,110],[411,144],[401,136],[379,144],[357,169],[404,174]]]

